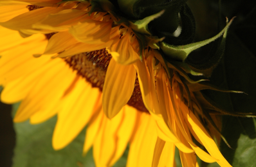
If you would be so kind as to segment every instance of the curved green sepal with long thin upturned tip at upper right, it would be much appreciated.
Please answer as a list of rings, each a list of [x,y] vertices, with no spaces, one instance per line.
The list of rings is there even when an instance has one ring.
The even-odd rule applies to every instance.
[[[167,55],[167,57],[170,57],[174,60],[184,61],[188,57],[189,53],[191,53],[195,49],[201,48],[202,46],[205,46],[206,44],[209,44],[210,42],[221,37],[221,35],[223,35],[223,33],[228,30],[228,27],[230,26],[232,21],[233,19],[231,19],[231,21],[226,25],[226,27],[221,32],[219,32],[217,35],[210,39],[206,39],[200,42],[187,44],[183,46],[174,46],[167,44],[166,42],[160,42],[160,48],[163,50],[165,55]]]

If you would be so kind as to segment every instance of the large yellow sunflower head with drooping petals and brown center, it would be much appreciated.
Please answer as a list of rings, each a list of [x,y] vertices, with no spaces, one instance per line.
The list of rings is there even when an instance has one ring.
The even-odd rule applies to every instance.
[[[200,121],[205,105],[199,91],[214,88],[191,80],[187,71],[201,73],[177,60],[192,50],[180,53],[149,30],[165,10],[134,21],[110,1],[0,5],[1,101],[22,101],[14,122],[42,123],[57,114],[55,150],[87,125],[83,149],[86,154],[93,146],[96,166],[113,166],[128,144],[127,166],[174,166],[176,147],[183,166],[198,166],[196,155],[230,166]],[[214,39],[225,37],[229,25]],[[180,31],[176,26],[173,36]]]

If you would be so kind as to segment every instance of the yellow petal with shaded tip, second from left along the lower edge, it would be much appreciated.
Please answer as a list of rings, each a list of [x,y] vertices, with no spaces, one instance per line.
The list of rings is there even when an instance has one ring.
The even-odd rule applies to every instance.
[[[50,65],[51,70],[44,70],[42,75],[36,76],[36,82],[32,82],[33,87],[15,114],[15,122],[25,121],[35,112],[53,107],[59,100],[59,90],[53,89],[53,87],[58,85],[61,78],[65,76],[66,71],[63,69],[65,69],[66,64],[63,60],[55,60]],[[30,77],[33,78],[33,76]]]

